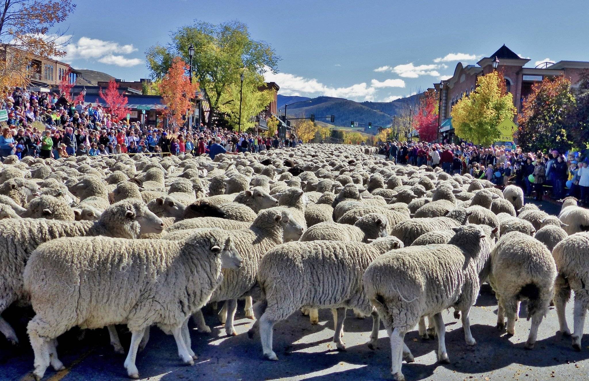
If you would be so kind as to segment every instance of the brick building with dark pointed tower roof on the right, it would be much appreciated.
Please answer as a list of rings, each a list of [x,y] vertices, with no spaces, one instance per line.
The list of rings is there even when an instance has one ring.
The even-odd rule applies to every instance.
[[[530,62],[530,59],[521,58],[505,45],[501,46],[491,56],[482,58],[476,65],[464,66],[461,62],[458,62],[454,69],[454,75],[442,81],[444,83],[441,90],[442,101],[440,108],[440,133],[442,138],[448,138],[449,141],[454,138],[454,128],[450,117],[452,106],[458,103],[463,96],[467,96],[474,91],[477,86],[478,76],[493,71],[495,58],[498,59],[497,70],[501,71],[505,76],[507,91],[513,94],[514,106],[517,108],[518,113],[522,112],[522,103],[530,95],[534,83],[541,82],[544,78],[564,75],[570,79],[572,86],[575,87],[578,86],[580,73],[589,69],[589,62],[584,61],[543,62],[535,68],[527,68],[524,66]],[[440,96],[440,83],[434,83],[434,88],[438,96]],[[515,119],[517,119],[517,115]]]

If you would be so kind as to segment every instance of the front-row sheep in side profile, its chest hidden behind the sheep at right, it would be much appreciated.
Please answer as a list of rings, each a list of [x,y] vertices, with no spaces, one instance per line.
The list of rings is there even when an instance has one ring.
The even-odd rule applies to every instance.
[[[310,241],[291,242],[270,250],[258,270],[260,301],[254,305],[258,320],[248,332],[253,337],[259,326],[263,355],[277,360],[272,350],[272,330],[297,309],[330,308],[333,312],[337,349],[342,342],[346,308],[372,314],[370,343],[378,339],[379,320],[362,288],[362,273],[369,263],[389,250],[402,247],[394,237],[379,238],[371,243]],[[334,312],[336,310],[336,312]]]

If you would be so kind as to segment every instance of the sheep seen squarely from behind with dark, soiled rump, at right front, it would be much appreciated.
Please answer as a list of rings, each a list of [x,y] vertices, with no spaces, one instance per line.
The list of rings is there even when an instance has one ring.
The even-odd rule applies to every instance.
[[[532,319],[530,336],[525,343],[532,349],[538,326],[548,312],[554,291],[556,265],[550,251],[539,240],[521,232],[502,236],[491,252],[489,283],[498,302],[497,327],[515,335],[515,320],[520,300],[528,300],[528,320]]]

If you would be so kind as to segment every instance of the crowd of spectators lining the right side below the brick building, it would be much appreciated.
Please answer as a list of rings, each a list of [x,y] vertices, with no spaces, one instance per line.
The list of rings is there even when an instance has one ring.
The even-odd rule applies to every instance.
[[[472,143],[431,144],[426,142],[388,142],[380,153],[396,163],[440,166],[449,174],[470,173],[487,179],[498,188],[514,182],[525,195],[542,200],[544,195],[558,200],[575,196],[589,205],[589,168],[575,153],[522,152],[519,146],[478,147]]]

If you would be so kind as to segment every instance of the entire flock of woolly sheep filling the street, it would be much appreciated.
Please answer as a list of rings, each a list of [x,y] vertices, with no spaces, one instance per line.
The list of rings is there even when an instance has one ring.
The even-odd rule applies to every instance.
[[[511,335],[527,300],[529,349],[551,302],[570,335],[564,309],[573,290],[573,347],[581,350],[589,210],[567,198],[550,216],[523,205],[514,185],[501,192],[468,174],[374,154],[310,144],[214,161],[9,156],[0,170],[0,313],[12,303],[34,309],[27,328],[37,379],[49,365],[64,368],[57,338],[72,327],[107,327],[124,353],[115,325],[127,325],[130,377],[139,376],[135,357],[152,325],[194,364],[189,318],[210,332],[201,309],[223,302],[220,320],[236,335],[237,300],[245,299],[246,317],[256,319],[248,335],[259,332],[270,360],[274,324],[296,310],[317,323],[317,309],[329,308],[340,350],[346,309],[372,316],[372,349],[382,320],[393,377],[403,380],[402,360],[413,361],[403,337],[415,326],[438,337],[438,360],[449,361],[446,309],[476,344],[469,311],[483,282],[497,296],[498,327]],[[0,332],[18,343],[2,317]]]

